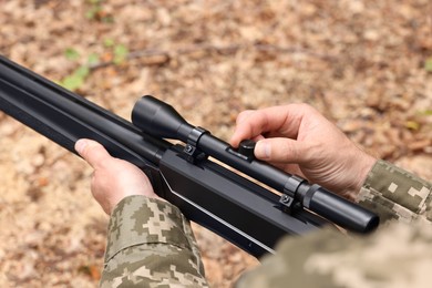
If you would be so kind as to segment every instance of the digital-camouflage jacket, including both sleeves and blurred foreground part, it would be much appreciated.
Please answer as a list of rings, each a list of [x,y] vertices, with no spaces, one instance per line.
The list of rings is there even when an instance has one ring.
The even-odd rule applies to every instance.
[[[431,188],[431,183],[377,162],[358,202],[380,214],[378,232],[361,237],[322,229],[287,237],[237,287],[429,286]],[[111,216],[101,286],[207,287],[187,219],[163,200],[123,199]]]

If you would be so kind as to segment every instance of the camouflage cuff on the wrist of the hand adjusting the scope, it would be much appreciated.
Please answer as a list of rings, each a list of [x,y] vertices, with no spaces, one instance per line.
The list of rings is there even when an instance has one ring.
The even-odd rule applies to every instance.
[[[359,194],[362,206],[389,219],[432,220],[432,184],[388,162],[378,161]]]

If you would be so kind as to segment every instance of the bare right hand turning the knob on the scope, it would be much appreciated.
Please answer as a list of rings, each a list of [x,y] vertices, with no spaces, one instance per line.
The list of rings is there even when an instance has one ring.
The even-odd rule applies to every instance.
[[[376,163],[307,104],[241,112],[230,144],[246,138],[257,141],[257,158],[340,194],[358,193]]]

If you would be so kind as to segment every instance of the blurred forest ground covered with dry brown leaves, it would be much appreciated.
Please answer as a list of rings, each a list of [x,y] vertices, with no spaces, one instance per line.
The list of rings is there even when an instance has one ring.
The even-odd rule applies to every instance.
[[[0,53],[130,119],[152,94],[229,140],[237,114],[306,102],[432,179],[430,0],[0,0]],[[0,112],[0,286],[96,287],[92,171]],[[258,261],[194,225],[208,280]]]

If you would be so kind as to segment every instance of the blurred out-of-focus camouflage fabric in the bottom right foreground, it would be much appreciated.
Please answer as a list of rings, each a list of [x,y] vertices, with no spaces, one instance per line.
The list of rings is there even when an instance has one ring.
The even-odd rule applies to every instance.
[[[370,237],[330,229],[287,237],[277,255],[245,272],[236,287],[430,287],[431,228],[393,222]]]

